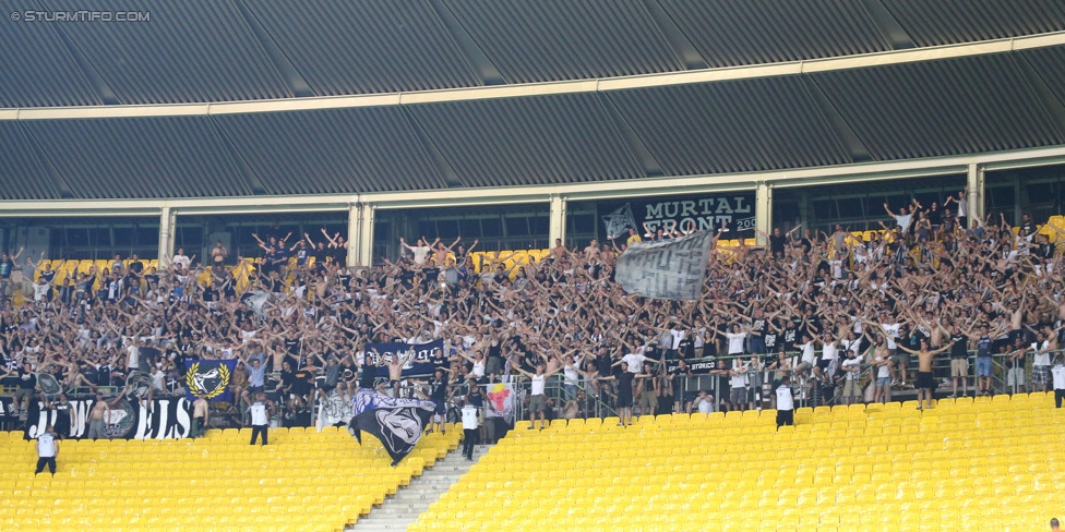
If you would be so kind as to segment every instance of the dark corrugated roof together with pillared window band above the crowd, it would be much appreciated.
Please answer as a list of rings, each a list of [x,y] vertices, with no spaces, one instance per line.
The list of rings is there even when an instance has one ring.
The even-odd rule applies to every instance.
[[[4,22],[2,246],[191,254],[303,216],[368,264],[427,228],[602,239],[606,206],[649,197],[742,192],[763,231],[925,189],[1062,210],[1055,2],[155,8]]]

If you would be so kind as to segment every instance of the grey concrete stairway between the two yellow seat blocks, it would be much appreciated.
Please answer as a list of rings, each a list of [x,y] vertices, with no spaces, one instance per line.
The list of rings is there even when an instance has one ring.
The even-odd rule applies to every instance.
[[[407,530],[418,516],[429,509],[441,495],[451,488],[469,468],[488,454],[489,446],[479,445],[474,449],[474,461],[463,457],[462,448],[452,450],[436,462],[431,470],[427,469],[421,476],[410,481],[406,487],[400,487],[395,495],[370,510],[370,515],[359,519],[351,532],[381,532]]]

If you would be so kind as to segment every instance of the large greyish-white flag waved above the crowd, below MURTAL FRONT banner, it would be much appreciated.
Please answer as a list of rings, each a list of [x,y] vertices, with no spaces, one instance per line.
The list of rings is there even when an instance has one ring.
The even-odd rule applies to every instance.
[[[618,282],[644,298],[697,300],[713,245],[710,231],[633,244],[618,257]]]

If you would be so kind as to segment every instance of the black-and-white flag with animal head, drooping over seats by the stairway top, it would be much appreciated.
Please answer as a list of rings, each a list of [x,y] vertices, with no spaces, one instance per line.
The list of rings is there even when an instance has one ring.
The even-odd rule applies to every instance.
[[[394,399],[366,388],[355,394],[351,403],[355,416],[348,423],[348,428],[360,444],[362,431],[380,439],[392,457],[393,466],[418,445],[435,410],[432,401]]]

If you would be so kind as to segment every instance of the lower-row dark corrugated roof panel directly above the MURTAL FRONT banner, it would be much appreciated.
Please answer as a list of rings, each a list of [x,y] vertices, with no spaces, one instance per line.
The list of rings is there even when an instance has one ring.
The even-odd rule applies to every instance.
[[[795,77],[611,92],[667,176],[851,162]]]

